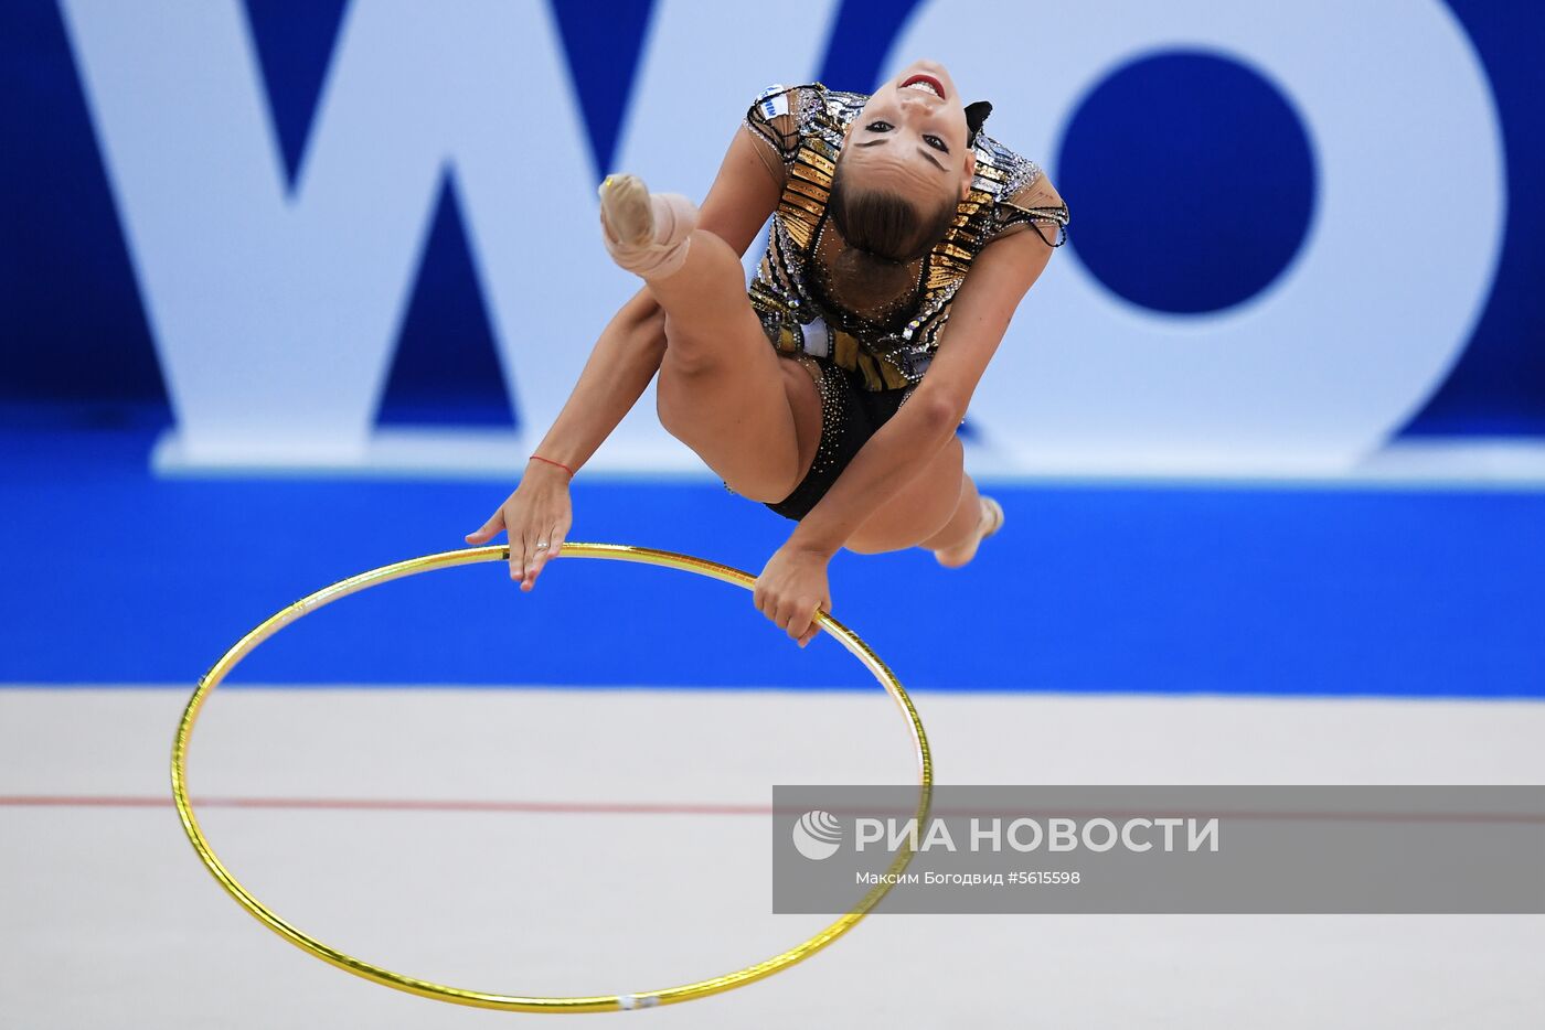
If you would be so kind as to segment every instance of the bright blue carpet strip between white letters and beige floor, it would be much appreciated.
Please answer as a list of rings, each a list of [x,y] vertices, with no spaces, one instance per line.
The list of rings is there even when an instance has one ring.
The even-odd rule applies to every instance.
[[[464,547],[514,485],[158,480],[154,420],[0,411],[0,681],[192,686],[246,630],[357,571]],[[1545,494],[1197,486],[993,491],[1003,534],[941,570],[839,554],[834,615],[908,687],[1545,696]],[[714,483],[581,473],[573,540],[760,571],[791,523]],[[388,584],[232,683],[868,687],[749,591],[559,561]]]

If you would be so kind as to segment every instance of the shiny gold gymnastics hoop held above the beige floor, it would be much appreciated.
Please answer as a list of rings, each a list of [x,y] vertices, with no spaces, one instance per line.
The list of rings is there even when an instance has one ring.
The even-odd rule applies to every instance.
[[[756,587],[756,576],[749,576],[739,568],[720,565],[718,562],[703,557],[692,557],[691,554],[658,551],[647,547],[629,547],[626,544],[570,544],[564,540],[558,557],[603,557],[624,562],[640,562],[644,565],[663,565],[666,568],[677,568],[698,576],[708,576],[711,579],[735,584],[737,587],[745,587],[746,590]],[[362,976],[386,987],[408,991],[409,994],[419,994],[420,998],[430,998],[457,1005],[473,1005],[476,1008],[499,1008],[504,1011],[620,1011],[630,1008],[649,1008],[654,1005],[674,1005],[695,998],[706,998],[735,987],[745,987],[746,984],[760,981],[772,973],[794,965],[796,962],[808,959],[816,951],[820,951],[857,925],[857,922],[864,919],[864,916],[868,914],[868,911],[890,891],[891,882],[895,880],[890,874],[901,872],[905,869],[907,863],[912,862],[910,848],[901,849],[895,862],[890,865],[887,876],[879,877],[879,883],[870,888],[870,891],[859,899],[857,905],[848,910],[836,922],[816,933],[816,936],[794,945],[788,951],[776,954],[763,962],[757,962],[756,965],[748,965],[743,970],[723,973],[720,976],[692,984],[683,984],[681,987],[666,987],[660,990],[638,991],[633,994],[599,994],[593,998],[521,998],[514,994],[494,994],[488,991],[465,990],[460,987],[447,987],[443,984],[422,981],[403,973],[394,973],[362,959],[355,959],[351,954],[345,954],[343,951],[307,936],[247,893],[241,882],[236,880],[219,857],[215,856],[215,849],[204,837],[198,817],[193,814],[193,805],[188,800],[187,750],[188,741],[193,737],[193,724],[198,721],[199,709],[204,706],[205,698],[209,698],[215,687],[226,679],[230,670],[235,669],[243,658],[252,653],[258,644],[269,639],[290,622],[295,622],[303,615],[315,612],[326,604],[332,604],[334,601],[346,598],[351,593],[358,593],[360,590],[366,590],[392,579],[402,579],[405,576],[414,576],[436,568],[451,568],[456,565],[473,565],[477,562],[494,561],[507,562],[508,559],[508,545],[490,545],[443,551],[440,554],[425,554],[423,557],[409,557],[403,562],[383,565],[380,568],[372,568],[371,571],[351,576],[349,579],[324,587],[311,596],[301,598],[295,604],[269,616],[263,624],[236,641],[230,650],[221,655],[219,661],[216,661],[210,670],[204,673],[198,683],[198,689],[193,692],[187,707],[182,710],[182,721],[178,724],[176,741],[171,746],[171,798],[176,801],[178,815],[182,820],[182,829],[187,831],[188,840],[193,843],[193,851],[198,852],[198,857],[204,862],[219,885],[226,888],[226,893],[269,930],[284,937],[297,948],[307,951],[323,962],[338,967],[340,970],[346,970],[355,976]],[[921,825],[922,820],[927,818],[933,794],[933,760],[929,754],[929,738],[922,730],[922,720],[918,718],[918,710],[913,707],[912,698],[907,696],[907,692],[902,689],[901,683],[885,662],[881,661],[879,656],[870,650],[868,644],[859,639],[853,630],[842,625],[825,612],[817,612],[816,621],[820,624],[820,629],[831,633],[831,636],[847,647],[848,652],[864,662],[864,667],[874,675],[879,684],[887,693],[890,693],[890,696],[901,707],[902,713],[907,717],[907,729],[912,734],[913,749],[918,757],[919,789],[916,818],[918,825]]]

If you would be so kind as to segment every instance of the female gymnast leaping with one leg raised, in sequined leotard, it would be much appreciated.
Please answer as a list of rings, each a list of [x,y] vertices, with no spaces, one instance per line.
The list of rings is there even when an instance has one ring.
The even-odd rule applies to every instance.
[[[603,242],[644,286],[467,542],[507,531],[510,576],[530,590],[569,533],[570,477],[658,372],[666,431],[726,490],[797,523],[754,599],[800,647],[817,605],[831,612],[839,548],[969,562],[1003,508],[976,493],[955,431],[1068,224],[1037,164],[981,131],[990,110],[918,60],[867,97],[763,91],[701,208],[609,176]],[[748,292],[740,255],[768,216]]]

